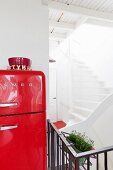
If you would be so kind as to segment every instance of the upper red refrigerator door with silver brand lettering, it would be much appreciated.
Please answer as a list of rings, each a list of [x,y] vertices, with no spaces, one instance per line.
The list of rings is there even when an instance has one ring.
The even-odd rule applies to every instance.
[[[45,76],[40,71],[0,71],[0,115],[45,111]]]

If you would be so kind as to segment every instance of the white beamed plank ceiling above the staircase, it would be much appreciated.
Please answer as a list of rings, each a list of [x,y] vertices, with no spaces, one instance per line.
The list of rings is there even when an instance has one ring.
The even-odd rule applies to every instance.
[[[113,27],[113,0],[42,0],[49,7],[49,39],[54,47],[81,24]]]

